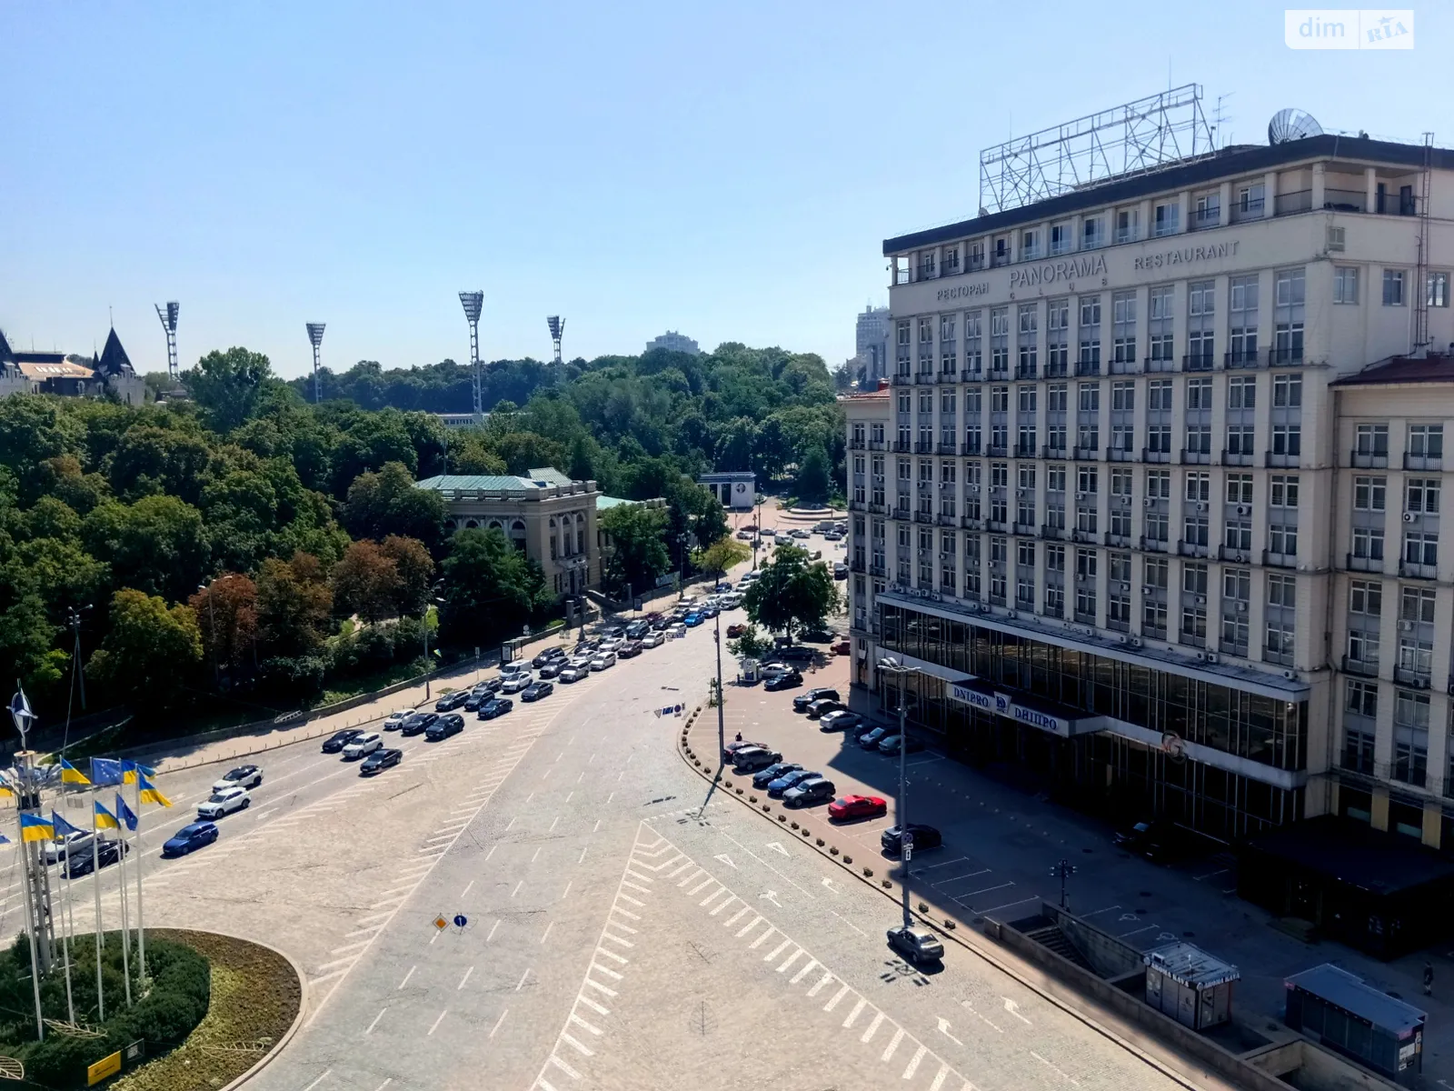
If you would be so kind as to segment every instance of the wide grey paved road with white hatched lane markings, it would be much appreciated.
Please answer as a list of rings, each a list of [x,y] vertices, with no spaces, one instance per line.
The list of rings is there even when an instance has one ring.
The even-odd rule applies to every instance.
[[[317,742],[275,751],[253,807],[180,861],[158,838],[222,768],[169,775],[148,925],[254,937],[308,976],[305,1026],[249,1087],[1178,1087],[958,947],[935,975],[897,962],[875,890],[705,802],[680,720],[653,710],[699,701],[712,662],[692,630],[442,743],[406,739],[374,780]],[[115,868],[102,883],[113,919]]]

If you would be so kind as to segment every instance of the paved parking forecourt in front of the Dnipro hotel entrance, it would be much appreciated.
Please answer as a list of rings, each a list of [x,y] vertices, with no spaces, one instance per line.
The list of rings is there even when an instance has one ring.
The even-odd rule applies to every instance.
[[[816,674],[804,674],[803,688],[832,685],[848,692],[848,658],[829,660]],[[843,735],[817,729],[814,720],[792,713],[801,690],[765,692],[762,687],[727,687],[727,738],[744,739],[779,751],[784,761],[823,772],[838,794],[881,796],[888,816],[835,826],[826,807],[798,812],[795,820],[814,836],[842,845],[855,866],[872,867],[877,876],[899,879],[897,860],[880,851],[878,835],[893,825],[899,784],[897,758],[858,746],[856,729]],[[848,703],[865,719],[885,717],[869,706],[869,695],[853,691]],[[712,738],[707,738],[710,729]],[[715,717],[702,717],[692,730],[698,754],[711,754]],[[1227,959],[1242,972],[1234,1008],[1245,1021],[1265,1017],[1281,1023],[1282,982],[1298,970],[1330,962],[1370,985],[1399,995],[1428,1011],[1423,1043],[1423,1076],[1410,1087],[1437,1091],[1437,1081],[1454,1084],[1454,944],[1380,963],[1333,943],[1303,944],[1269,925],[1269,915],[1236,895],[1236,863],[1230,855],[1162,867],[1131,857],[1111,844],[1111,828],[1043,796],[1022,791],[948,759],[933,751],[909,755],[909,819],[944,832],[944,847],[922,852],[910,864],[913,902],[931,906],[936,918],[951,918],[960,928],[983,915],[1002,921],[1034,911],[1044,898],[1057,902],[1060,884],[1050,874],[1059,860],[1076,873],[1066,883],[1073,912],[1127,943],[1150,950],[1172,940],[1189,940]],[[727,774],[731,777],[731,774]],[[750,790],[750,778],[733,777]],[[744,781],[744,783],[743,783]],[[766,800],[766,793],[755,793]],[[1422,995],[1422,970],[1434,963],[1435,996]],[[1438,995],[1447,992],[1448,995]]]

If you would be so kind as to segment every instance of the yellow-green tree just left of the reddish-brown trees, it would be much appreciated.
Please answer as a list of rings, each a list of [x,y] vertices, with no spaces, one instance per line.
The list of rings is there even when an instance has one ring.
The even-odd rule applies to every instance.
[[[202,633],[190,607],[122,588],[111,598],[111,624],[90,658],[90,676],[111,692],[147,706],[172,704],[202,659]]]

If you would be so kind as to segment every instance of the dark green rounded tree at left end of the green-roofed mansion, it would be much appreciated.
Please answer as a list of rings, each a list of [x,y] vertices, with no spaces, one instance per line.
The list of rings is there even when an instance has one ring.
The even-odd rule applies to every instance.
[[[541,566],[497,529],[457,531],[442,567],[441,634],[457,644],[518,634],[521,623],[551,601]]]

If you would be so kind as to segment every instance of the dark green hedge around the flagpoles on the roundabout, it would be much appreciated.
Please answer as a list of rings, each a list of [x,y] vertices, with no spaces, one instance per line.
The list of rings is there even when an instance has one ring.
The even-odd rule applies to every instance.
[[[150,930],[148,930],[150,934]],[[145,998],[137,980],[135,943],[131,948],[134,1007],[126,1007],[126,985],[121,964],[121,935],[103,934],[102,982],[106,989],[106,1021],[96,1023],[96,941],[79,935],[71,944],[71,996],[76,1021],[103,1037],[74,1037],[47,1030],[35,1039],[35,998],[31,985],[31,946],[25,935],[0,956],[0,1053],[25,1062],[26,1078],[52,1088],[86,1087],[86,1069],[137,1039],[145,1040],[154,1058],[182,1044],[206,1015],[212,975],[206,959],[190,947],[166,940],[148,940],[147,973],[151,988]],[[57,959],[60,959],[57,943]],[[41,983],[41,1010],[47,1018],[65,1021],[65,976],[54,970]]]

